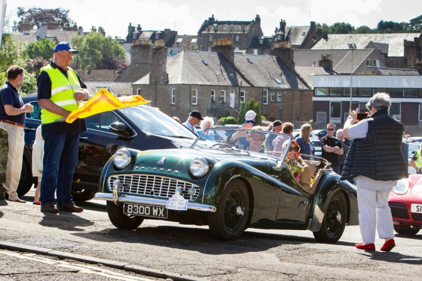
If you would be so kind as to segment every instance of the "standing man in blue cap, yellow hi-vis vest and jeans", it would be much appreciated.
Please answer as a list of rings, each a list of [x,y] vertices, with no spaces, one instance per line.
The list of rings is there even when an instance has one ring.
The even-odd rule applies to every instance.
[[[79,133],[86,131],[84,119],[66,123],[66,117],[88,99],[85,83],[68,67],[78,53],[67,42],[54,48],[54,58],[38,76],[38,104],[41,110],[41,135],[44,139],[44,161],[41,180],[41,212],[82,212],[70,193],[78,159]],[[54,192],[57,190],[57,208]]]

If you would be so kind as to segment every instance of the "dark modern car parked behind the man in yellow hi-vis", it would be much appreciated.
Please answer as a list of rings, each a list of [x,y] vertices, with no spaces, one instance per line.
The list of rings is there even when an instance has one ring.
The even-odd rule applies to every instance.
[[[31,149],[35,130],[41,124],[41,107],[36,94],[22,98],[34,107],[26,114],[25,150],[17,193],[28,192],[32,183]],[[87,131],[80,134],[78,164],[73,178],[72,195],[75,201],[94,197],[104,164],[119,148],[139,150],[189,147],[196,135],[182,124],[149,105],[129,107],[97,114],[85,119]]]

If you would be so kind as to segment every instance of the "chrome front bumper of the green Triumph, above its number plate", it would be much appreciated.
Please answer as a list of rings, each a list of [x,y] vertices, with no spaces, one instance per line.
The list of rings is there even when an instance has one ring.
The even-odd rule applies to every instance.
[[[95,194],[94,199],[113,201],[116,205],[120,205],[120,203],[131,203],[146,204],[158,207],[167,206],[168,199],[148,198],[134,195],[119,194],[117,192],[117,184],[113,184],[113,193],[98,192]],[[188,202],[188,209],[211,213],[214,213],[217,210],[214,206],[195,202]]]

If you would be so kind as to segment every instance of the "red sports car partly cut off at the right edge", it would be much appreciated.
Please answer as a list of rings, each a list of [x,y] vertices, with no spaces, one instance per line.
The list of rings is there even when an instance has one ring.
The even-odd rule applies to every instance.
[[[399,180],[388,202],[394,230],[399,234],[416,235],[422,228],[422,175],[411,174]]]

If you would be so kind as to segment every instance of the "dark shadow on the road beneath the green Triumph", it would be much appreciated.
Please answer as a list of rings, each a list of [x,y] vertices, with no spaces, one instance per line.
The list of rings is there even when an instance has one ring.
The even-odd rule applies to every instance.
[[[293,235],[266,234],[247,231],[236,240],[215,240],[208,228],[186,226],[140,227],[136,230],[117,228],[72,235],[102,242],[140,243],[175,249],[198,251],[209,255],[241,254],[261,252],[280,245],[317,243],[313,238]],[[351,246],[352,243],[338,242]]]

